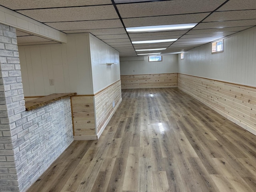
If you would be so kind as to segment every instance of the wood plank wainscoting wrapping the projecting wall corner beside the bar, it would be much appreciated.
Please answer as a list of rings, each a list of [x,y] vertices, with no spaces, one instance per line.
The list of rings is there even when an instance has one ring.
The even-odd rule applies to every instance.
[[[97,140],[121,101],[120,80],[93,95],[72,96],[74,140]]]

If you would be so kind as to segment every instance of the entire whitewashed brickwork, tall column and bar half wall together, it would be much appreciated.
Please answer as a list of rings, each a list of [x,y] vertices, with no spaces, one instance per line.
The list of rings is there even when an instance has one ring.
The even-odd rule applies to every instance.
[[[18,55],[0,24],[0,191],[25,192],[73,141],[70,98],[25,111]]]

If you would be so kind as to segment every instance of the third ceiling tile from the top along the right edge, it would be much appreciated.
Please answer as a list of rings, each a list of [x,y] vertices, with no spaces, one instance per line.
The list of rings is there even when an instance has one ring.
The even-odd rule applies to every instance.
[[[221,22],[204,22],[198,24],[194,29],[210,29],[210,28],[224,28],[224,27],[240,27],[240,26],[254,26],[256,19],[252,20],[234,20]]]

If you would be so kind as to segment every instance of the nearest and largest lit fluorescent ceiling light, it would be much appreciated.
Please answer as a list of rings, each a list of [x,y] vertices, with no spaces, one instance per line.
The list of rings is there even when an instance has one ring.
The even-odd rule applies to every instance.
[[[176,25],[157,25],[157,26],[143,26],[143,27],[127,27],[128,33],[142,33],[142,32],[156,32],[156,31],[173,31],[191,29],[197,23],[176,24]]]

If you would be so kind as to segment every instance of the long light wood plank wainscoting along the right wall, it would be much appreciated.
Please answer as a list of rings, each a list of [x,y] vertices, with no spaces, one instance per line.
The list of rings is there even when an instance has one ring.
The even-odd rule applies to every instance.
[[[178,74],[178,88],[256,135],[256,87]]]

